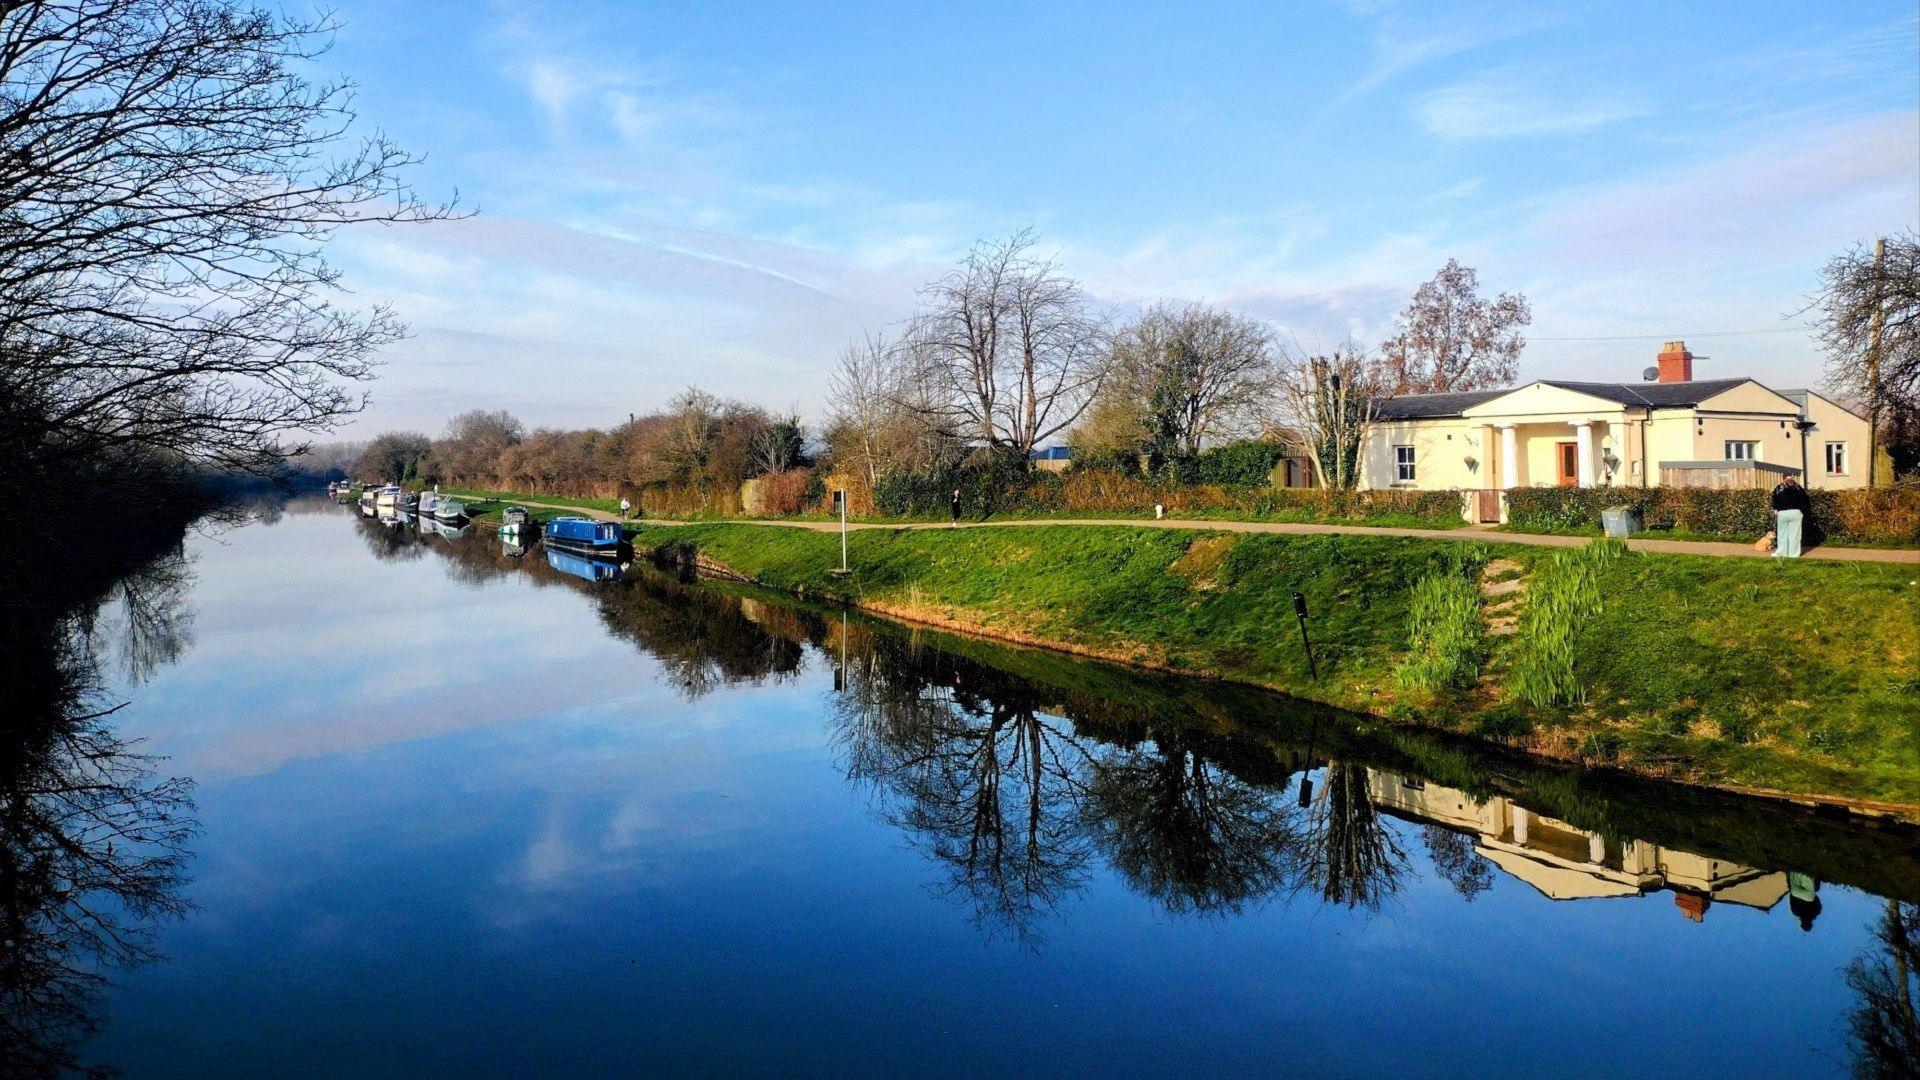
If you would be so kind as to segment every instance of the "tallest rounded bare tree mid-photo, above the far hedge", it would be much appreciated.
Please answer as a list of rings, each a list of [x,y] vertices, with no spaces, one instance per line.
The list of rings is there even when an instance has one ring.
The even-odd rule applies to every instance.
[[[1071,427],[1106,373],[1087,294],[1033,244],[1031,229],[975,244],[922,290],[900,356],[929,400],[897,398],[948,436],[1020,455]]]

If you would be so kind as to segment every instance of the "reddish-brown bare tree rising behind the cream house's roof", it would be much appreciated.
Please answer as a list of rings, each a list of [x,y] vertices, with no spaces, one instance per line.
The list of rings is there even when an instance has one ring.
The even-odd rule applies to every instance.
[[[1448,259],[1423,284],[1405,311],[1400,332],[1380,346],[1390,394],[1442,394],[1507,386],[1519,373],[1534,321],[1526,296],[1501,292],[1480,298],[1480,275]]]

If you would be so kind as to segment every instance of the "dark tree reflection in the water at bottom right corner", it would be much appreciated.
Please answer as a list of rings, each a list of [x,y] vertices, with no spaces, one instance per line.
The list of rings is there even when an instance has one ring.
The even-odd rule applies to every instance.
[[[1874,924],[1878,953],[1847,965],[1859,1003],[1847,1017],[1855,1076],[1920,1076],[1920,903],[1889,899]]]

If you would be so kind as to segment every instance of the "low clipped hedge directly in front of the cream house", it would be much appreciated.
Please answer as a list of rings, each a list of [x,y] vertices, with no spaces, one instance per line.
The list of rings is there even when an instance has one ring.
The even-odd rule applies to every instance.
[[[1809,490],[1812,528],[1837,544],[1920,546],[1920,488]],[[1513,488],[1507,525],[1521,532],[1599,530],[1599,511],[1628,505],[1645,528],[1751,540],[1772,528],[1764,488]]]

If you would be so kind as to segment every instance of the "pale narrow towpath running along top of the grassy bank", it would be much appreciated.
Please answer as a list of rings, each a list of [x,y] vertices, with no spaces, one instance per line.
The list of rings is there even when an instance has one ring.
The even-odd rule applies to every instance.
[[[568,513],[578,513],[582,517],[591,517],[595,521],[622,521],[618,513],[609,513],[603,509],[588,509],[578,505],[559,505],[518,500],[518,505],[538,505],[541,509],[564,509]],[[766,525],[772,528],[810,528],[814,532],[837,532],[837,521],[764,521],[751,517],[730,517],[730,519],[710,519],[710,521],[668,521],[657,517],[639,517],[626,521],[628,525]],[[1160,521],[1140,519],[1140,517],[1037,517],[1037,519],[993,519],[993,521],[962,521],[960,528],[1004,528],[1010,525],[1123,525],[1127,528],[1190,528],[1208,532],[1283,532],[1298,536],[1319,536],[1319,534],[1342,534],[1342,536],[1413,536],[1419,540],[1484,540],[1490,544],[1530,544],[1536,548],[1578,548],[1592,540],[1592,536],[1548,536],[1542,532],[1500,532],[1496,528],[1390,528],[1375,525],[1309,525],[1294,521],[1206,521],[1206,519],[1173,519],[1165,517]],[[916,523],[856,523],[849,521],[849,532],[864,532],[868,528],[952,528],[945,521],[916,521]],[[1634,552],[1659,552],[1667,555],[1720,555],[1720,557],[1749,557],[1764,559],[1763,552],[1755,552],[1751,544],[1722,544],[1711,540],[1657,540],[1636,536],[1626,542]],[[1920,565],[1920,552],[1912,550],[1893,550],[1893,548],[1834,548],[1822,544],[1807,552],[1809,559],[1830,559],[1841,563],[1910,563]]]

